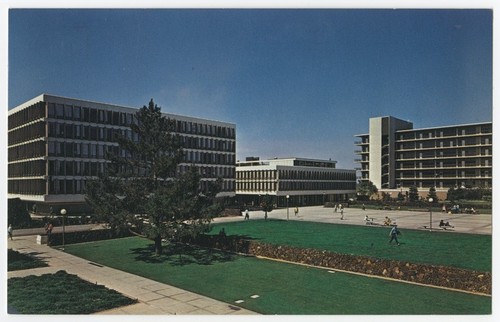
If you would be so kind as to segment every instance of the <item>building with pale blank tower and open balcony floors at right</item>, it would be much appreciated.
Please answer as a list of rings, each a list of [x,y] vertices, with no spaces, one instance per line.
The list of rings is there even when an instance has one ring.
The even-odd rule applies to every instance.
[[[411,122],[375,117],[369,133],[356,137],[361,180],[378,189],[491,188],[491,122],[413,129]]]

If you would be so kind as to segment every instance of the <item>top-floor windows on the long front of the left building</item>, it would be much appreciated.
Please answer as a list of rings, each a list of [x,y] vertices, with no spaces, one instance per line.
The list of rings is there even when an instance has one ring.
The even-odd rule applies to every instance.
[[[137,123],[135,113],[109,111],[70,104],[48,104],[48,117],[89,123],[100,123],[118,126],[130,126]],[[210,125],[188,121],[174,120],[175,132],[201,134],[224,138],[235,138],[233,127]]]

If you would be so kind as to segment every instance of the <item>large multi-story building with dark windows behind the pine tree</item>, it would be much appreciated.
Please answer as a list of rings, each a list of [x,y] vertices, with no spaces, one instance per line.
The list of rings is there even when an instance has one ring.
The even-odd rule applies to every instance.
[[[36,204],[42,212],[62,205],[81,210],[85,182],[104,170],[106,151],[122,153],[117,134],[134,138],[130,124],[137,111],[46,94],[11,109],[8,197]],[[202,188],[222,177],[221,196],[234,196],[235,125],[164,115],[175,121],[175,132],[182,139],[184,160],[179,170],[185,171],[190,165],[199,167]]]

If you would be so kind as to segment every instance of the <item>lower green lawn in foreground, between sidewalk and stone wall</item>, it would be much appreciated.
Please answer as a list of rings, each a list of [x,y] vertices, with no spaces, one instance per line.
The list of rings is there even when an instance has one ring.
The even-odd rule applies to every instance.
[[[155,256],[153,244],[137,237],[67,245],[66,251],[263,314],[491,313],[490,297],[197,248]]]

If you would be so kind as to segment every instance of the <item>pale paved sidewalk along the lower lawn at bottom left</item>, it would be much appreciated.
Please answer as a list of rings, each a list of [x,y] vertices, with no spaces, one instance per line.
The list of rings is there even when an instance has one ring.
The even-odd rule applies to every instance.
[[[14,240],[8,241],[8,247],[21,253],[36,256],[49,264],[48,267],[8,272],[8,278],[42,275],[65,270],[69,274],[75,274],[86,281],[104,285],[107,288],[114,289],[139,301],[137,304],[97,314],[257,314],[236,305],[220,302],[167,284],[91,263],[47,245],[38,245],[35,235],[18,237],[14,235]]]

